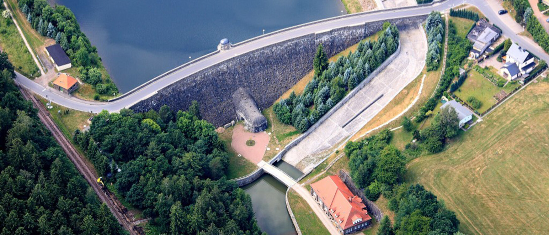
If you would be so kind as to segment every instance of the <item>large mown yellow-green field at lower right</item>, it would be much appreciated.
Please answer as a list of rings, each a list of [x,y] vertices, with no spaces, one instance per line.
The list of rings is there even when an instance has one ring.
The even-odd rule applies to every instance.
[[[549,83],[530,84],[444,152],[408,164],[467,234],[547,234]]]

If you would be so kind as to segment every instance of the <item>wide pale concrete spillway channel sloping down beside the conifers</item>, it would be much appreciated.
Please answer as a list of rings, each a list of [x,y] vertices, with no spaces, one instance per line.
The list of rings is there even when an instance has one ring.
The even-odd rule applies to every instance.
[[[393,62],[309,136],[291,148],[283,156],[285,162],[303,172],[312,169],[334,148],[366,125],[421,73],[427,55],[427,38],[422,27],[401,31],[400,42],[400,54],[396,55]],[[366,110],[360,113],[365,107]]]

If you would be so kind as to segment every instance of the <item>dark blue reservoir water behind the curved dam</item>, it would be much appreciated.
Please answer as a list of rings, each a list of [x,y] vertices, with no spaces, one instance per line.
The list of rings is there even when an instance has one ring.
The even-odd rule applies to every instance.
[[[265,32],[337,16],[340,0],[49,0],[75,13],[122,93],[192,58]]]

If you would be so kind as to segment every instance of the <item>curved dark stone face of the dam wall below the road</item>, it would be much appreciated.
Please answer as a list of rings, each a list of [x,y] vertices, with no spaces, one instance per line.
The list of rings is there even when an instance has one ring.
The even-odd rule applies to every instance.
[[[319,44],[331,57],[378,32],[386,21],[396,24],[399,30],[405,30],[417,27],[425,19],[427,15],[366,22],[272,44],[182,78],[131,108],[144,112],[169,105],[172,110],[187,110],[191,101],[197,100],[201,116],[219,127],[237,117],[231,99],[234,90],[247,88],[257,106],[261,109],[270,107],[312,70],[313,56]],[[221,53],[231,53],[231,50]]]

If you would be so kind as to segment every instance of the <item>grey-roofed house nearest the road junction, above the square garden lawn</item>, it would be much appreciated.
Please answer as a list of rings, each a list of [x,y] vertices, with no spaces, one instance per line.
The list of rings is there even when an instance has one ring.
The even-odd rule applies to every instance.
[[[471,49],[469,56],[479,58],[500,35],[501,30],[485,19],[477,21],[474,28],[467,35],[467,38],[473,42],[473,49]]]

